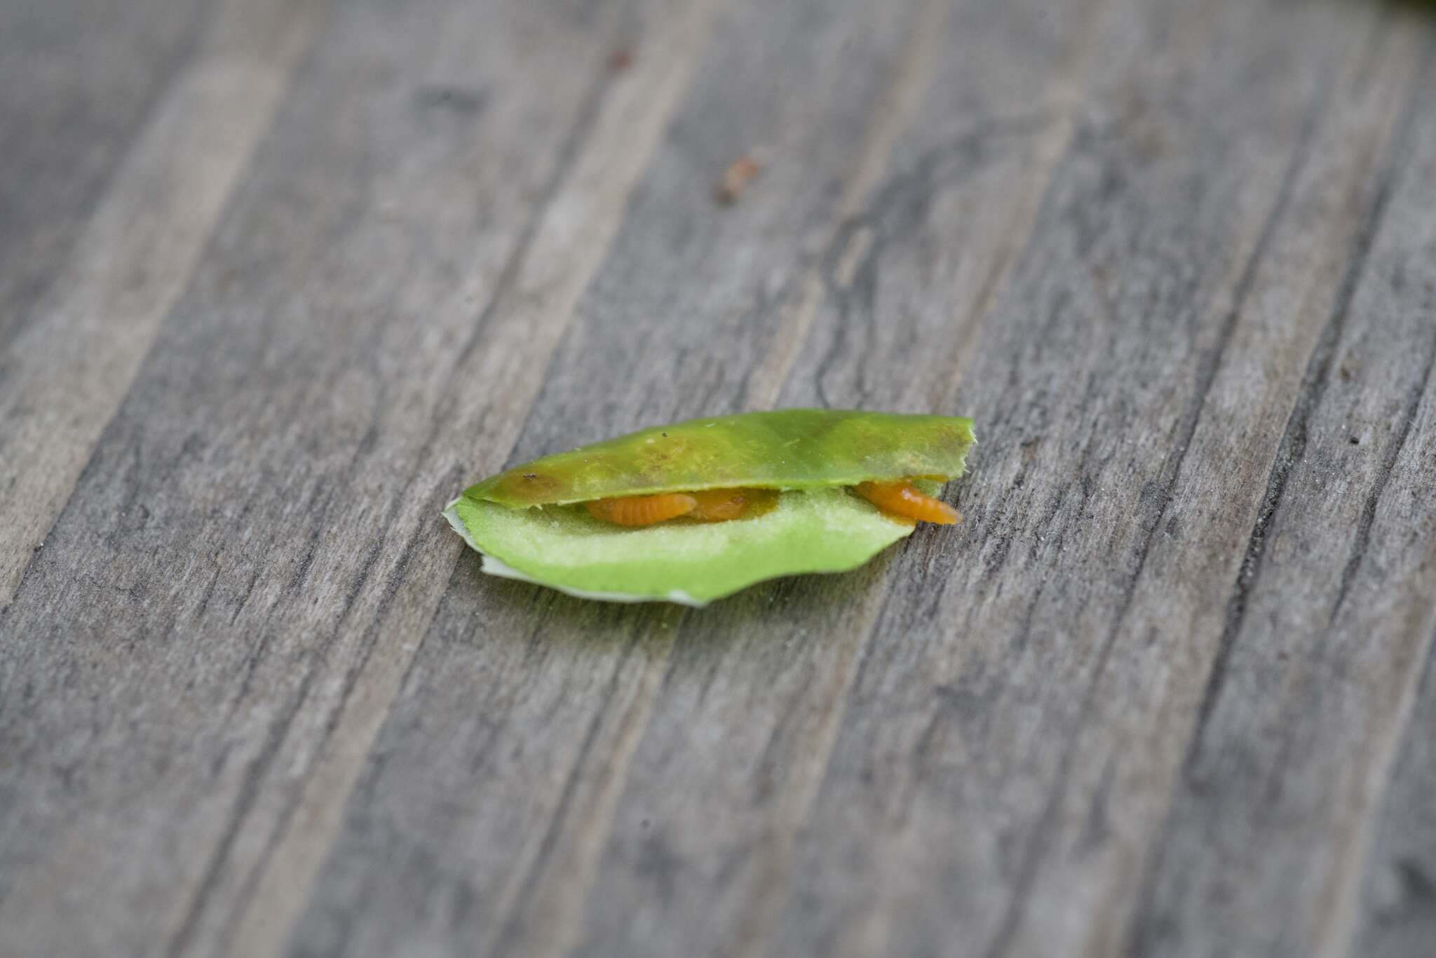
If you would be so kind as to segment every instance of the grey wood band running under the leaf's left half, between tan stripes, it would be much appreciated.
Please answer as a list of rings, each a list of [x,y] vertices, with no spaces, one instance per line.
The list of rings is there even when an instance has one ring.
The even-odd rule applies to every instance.
[[[831,241],[850,184],[887,151],[879,113],[913,86],[898,63],[922,13],[731,13],[511,458],[741,395],[764,340],[791,335],[758,319],[801,322],[813,248]],[[771,89],[793,102],[770,103]],[[712,181],[755,147],[763,177],[737,205],[715,207]],[[293,951],[383,954],[399,929],[437,952],[572,947],[678,619],[478,582],[477,562],[460,563]]]

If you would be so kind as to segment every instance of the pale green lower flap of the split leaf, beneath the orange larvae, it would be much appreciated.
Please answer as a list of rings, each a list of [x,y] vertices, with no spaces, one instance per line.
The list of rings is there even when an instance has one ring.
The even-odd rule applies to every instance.
[[[770,511],[727,523],[643,529],[599,521],[579,506],[508,508],[468,497],[445,516],[484,553],[485,572],[584,597],[688,605],[777,576],[856,569],[913,530],[844,488],[785,491]]]

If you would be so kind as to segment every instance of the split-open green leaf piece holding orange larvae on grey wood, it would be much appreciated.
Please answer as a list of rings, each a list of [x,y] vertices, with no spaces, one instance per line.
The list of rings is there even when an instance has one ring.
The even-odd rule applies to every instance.
[[[854,569],[912,533],[846,487],[962,475],[972,421],[844,409],[689,419],[547,455],[471,485],[444,510],[484,570],[619,602],[705,605],[764,579]],[[939,483],[919,485],[935,494]],[[625,529],[596,498],[783,490],[770,511]]]

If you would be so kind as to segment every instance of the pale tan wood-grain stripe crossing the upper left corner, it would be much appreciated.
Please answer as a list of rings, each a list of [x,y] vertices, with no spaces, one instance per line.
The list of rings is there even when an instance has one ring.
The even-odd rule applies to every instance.
[[[184,290],[316,9],[309,0],[220,9],[55,279],[53,296],[0,356],[0,608]]]

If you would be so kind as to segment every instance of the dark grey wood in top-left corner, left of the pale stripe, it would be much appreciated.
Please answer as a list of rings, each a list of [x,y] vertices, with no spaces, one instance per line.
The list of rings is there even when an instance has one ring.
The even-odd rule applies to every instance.
[[[0,349],[43,302],[215,6],[0,4]]]

